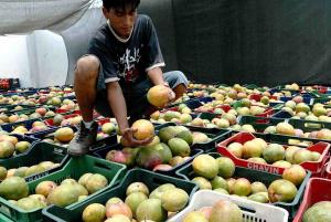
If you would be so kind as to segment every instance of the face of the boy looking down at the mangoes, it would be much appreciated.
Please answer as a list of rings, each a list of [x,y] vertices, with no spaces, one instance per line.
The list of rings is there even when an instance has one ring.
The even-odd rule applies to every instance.
[[[124,39],[130,36],[131,30],[135,25],[135,21],[137,18],[137,10],[132,6],[126,6],[125,9],[105,9],[103,8],[103,12],[110,21],[110,25],[114,31]]]

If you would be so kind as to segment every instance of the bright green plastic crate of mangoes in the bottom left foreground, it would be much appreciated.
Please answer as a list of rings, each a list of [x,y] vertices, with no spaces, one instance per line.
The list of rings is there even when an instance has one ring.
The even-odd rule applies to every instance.
[[[126,167],[124,165],[109,162],[103,159],[98,159],[92,156],[84,156],[84,157],[76,157],[71,158],[66,165],[63,167],[63,169],[50,173],[45,177],[42,177],[38,180],[28,182],[30,194],[34,193],[35,187],[45,180],[52,180],[56,183],[60,183],[64,179],[73,178],[78,180],[79,177],[86,172],[92,173],[100,173],[105,176],[108,179],[108,186],[90,195],[88,195],[85,200],[82,200],[82,202],[88,201],[90,198],[96,197],[98,193],[104,192],[105,190],[111,188],[116,182],[118,182],[124,173],[125,173]],[[68,205],[67,208],[72,208],[74,205],[77,205],[78,202],[73,203],[72,205]],[[9,201],[4,200],[3,198],[0,198],[0,213],[7,215],[13,221],[17,222],[40,222],[42,221],[42,209],[39,210],[32,210],[32,211],[24,211],[20,208],[13,205]]]

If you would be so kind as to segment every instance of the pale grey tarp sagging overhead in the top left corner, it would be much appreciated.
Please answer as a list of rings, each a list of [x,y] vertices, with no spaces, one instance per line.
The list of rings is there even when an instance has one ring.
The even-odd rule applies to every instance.
[[[94,0],[0,0],[0,34],[42,29],[65,30],[75,24],[93,2]]]

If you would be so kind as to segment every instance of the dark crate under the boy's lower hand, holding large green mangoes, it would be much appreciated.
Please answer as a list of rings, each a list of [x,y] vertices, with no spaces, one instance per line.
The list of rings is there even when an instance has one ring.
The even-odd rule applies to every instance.
[[[93,156],[102,158],[102,159],[106,159],[106,156],[108,154],[108,151],[110,150],[121,150],[124,147],[120,144],[114,145],[114,146],[108,146],[108,147],[104,147],[100,149],[97,149],[93,152]],[[168,175],[168,176],[175,176],[175,171],[178,169],[180,169],[181,167],[185,166],[188,162],[192,161],[192,159],[194,157],[196,157],[197,155],[202,154],[203,151],[201,149],[192,149],[191,150],[191,155],[190,158],[188,160],[185,160],[184,162],[182,162],[181,165],[173,167],[171,170],[157,170],[156,172],[162,173],[162,175]]]

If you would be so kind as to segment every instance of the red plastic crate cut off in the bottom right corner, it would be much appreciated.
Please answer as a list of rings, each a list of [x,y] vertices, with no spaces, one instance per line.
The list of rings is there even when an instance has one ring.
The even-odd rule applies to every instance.
[[[307,183],[303,200],[293,222],[301,222],[308,208],[320,201],[331,201],[331,180],[311,178]]]

